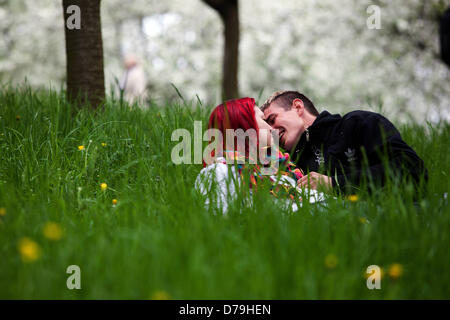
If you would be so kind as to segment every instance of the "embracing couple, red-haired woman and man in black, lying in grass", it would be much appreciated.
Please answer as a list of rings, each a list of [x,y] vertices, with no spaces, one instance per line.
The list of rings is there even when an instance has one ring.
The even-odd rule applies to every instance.
[[[225,139],[222,152],[211,154],[196,180],[204,195],[216,193],[216,205],[225,211],[237,187],[247,182],[256,188],[269,181],[274,196],[293,199],[306,192],[310,202],[321,202],[334,191],[352,194],[364,187],[371,192],[390,178],[410,181],[416,189],[428,179],[423,161],[388,119],[361,110],[344,116],[319,113],[297,91],[275,92],[260,107],[253,98],[226,101],[213,110],[208,128],[224,136],[227,129],[255,130],[256,143],[250,144],[277,164],[276,172],[265,174],[267,161],[252,161],[252,145],[247,142],[242,152],[232,143],[228,150]]]

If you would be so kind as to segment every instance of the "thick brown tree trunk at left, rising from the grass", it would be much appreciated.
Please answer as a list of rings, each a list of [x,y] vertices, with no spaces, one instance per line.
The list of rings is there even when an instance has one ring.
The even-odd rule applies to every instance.
[[[71,5],[81,9],[81,29],[67,28]],[[100,0],[63,0],[63,9],[68,97],[97,108],[105,98]]]

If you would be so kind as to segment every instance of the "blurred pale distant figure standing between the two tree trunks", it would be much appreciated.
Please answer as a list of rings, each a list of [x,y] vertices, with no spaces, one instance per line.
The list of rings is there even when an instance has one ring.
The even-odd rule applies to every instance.
[[[146,84],[144,69],[133,55],[127,55],[124,59],[125,73],[120,81],[120,90],[123,91],[124,99],[132,105],[138,103],[146,108]]]

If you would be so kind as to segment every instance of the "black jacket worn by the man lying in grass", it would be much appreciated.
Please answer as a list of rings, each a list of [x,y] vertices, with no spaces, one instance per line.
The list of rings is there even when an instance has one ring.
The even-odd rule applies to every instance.
[[[410,177],[416,184],[422,174],[428,179],[423,161],[394,125],[369,111],[343,117],[323,111],[302,134],[292,157],[305,172],[331,176],[333,187],[346,193],[354,192],[363,177],[382,186],[387,163],[383,158],[395,175]]]

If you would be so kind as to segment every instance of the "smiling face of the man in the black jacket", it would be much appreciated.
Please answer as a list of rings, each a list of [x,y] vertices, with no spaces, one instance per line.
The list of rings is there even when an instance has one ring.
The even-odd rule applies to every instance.
[[[305,123],[301,117],[303,110],[291,107],[285,110],[276,102],[272,102],[264,110],[264,118],[273,129],[279,130],[280,145],[287,151],[295,147],[301,134],[305,131]]]

